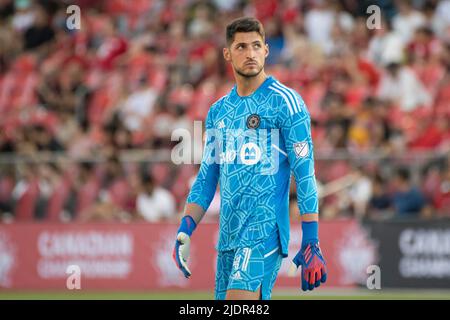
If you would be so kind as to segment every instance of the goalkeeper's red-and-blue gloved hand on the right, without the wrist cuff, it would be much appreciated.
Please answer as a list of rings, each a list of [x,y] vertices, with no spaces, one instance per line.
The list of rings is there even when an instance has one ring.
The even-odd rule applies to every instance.
[[[292,260],[289,275],[293,276],[298,267],[302,267],[302,290],[313,290],[327,281],[327,267],[319,242],[310,242]]]

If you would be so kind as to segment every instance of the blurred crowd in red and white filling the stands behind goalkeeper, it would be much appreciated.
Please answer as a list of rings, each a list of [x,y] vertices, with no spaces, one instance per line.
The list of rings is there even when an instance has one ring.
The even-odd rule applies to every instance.
[[[311,113],[323,218],[450,216],[449,0],[0,0],[2,221],[178,219],[198,167],[123,155],[230,90],[243,15]]]

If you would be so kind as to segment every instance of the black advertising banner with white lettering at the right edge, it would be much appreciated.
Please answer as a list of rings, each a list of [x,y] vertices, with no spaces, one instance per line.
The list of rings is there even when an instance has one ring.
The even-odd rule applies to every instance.
[[[383,287],[450,288],[450,220],[365,226],[379,246]]]

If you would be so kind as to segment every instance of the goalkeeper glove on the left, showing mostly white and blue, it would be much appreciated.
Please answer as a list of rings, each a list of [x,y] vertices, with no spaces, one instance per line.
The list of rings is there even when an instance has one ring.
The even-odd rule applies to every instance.
[[[181,220],[180,228],[177,232],[177,239],[175,241],[175,247],[173,249],[173,260],[186,278],[191,276],[191,271],[187,266],[187,259],[189,258],[191,235],[194,232],[196,223],[191,216],[186,215]]]

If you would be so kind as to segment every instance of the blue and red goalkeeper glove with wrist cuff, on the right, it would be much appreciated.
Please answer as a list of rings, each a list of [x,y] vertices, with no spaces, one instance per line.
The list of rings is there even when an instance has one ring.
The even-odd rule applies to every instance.
[[[313,290],[327,281],[325,259],[319,246],[318,223],[302,222],[302,247],[294,257],[289,269],[293,276],[299,266],[302,267],[302,290]]]

